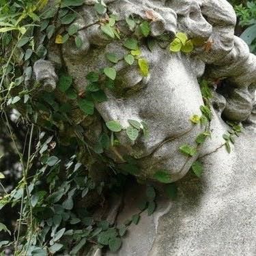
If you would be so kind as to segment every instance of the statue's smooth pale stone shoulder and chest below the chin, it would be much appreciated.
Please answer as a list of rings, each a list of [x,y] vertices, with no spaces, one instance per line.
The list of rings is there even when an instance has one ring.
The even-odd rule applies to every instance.
[[[221,147],[201,158],[203,177],[180,180],[177,200],[158,201],[153,216],[130,227],[121,250],[107,255],[255,255],[255,135],[248,127],[231,154]],[[138,212],[138,190],[128,193],[120,223]]]

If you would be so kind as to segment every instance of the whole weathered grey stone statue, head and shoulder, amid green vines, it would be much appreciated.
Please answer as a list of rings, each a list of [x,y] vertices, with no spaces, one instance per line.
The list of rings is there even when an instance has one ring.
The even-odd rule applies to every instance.
[[[49,44],[47,59],[34,65],[36,80],[44,89],[55,90],[55,68],[62,66],[74,78],[79,95],[86,94],[85,76],[108,66],[105,54],[115,53],[120,59],[113,66],[117,86],[104,88],[108,100],[96,103],[96,115],[84,115],[72,101],[72,122],[83,127],[87,143],[97,143],[105,122],[117,120],[127,128],[128,119],[133,119],[147,124],[150,137],[140,134],[131,141],[125,130],[115,133],[119,145],[104,151],[115,165],[124,164],[124,156],[132,156],[141,170],[134,175],[150,181],[156,181],[158,170],[165,170],[171,182],[180,180],[197,159],[206,170],[202,180],[188,176],[179,182],[176,202],[162,197],[156,213],[143,215],[116,255],[255,255],[256,57],[234,35],[233,8],[226,0],[105,0],[109,12],[119,17],[118,29],[124,35],[131,34],[126,18],[149,20],[150,36],[158,42],[149,49],[141,38],[141,57],[150,64],[150,74],[142,76],[136,65],[129,66],[122,59],[127,54],[122,41],[102,33],[95,2],[85,0],[74,21],[83,40],[81,48],[74,40],[61,47]],[[206,43],[189,54],[170,53],[170,41],[162,41],[160,36],[173,39],[177,32]],[[205,128],[189,120],[201,115],[204,102],[198,79],[202,76],[212,81],[214,97],[210,102],[211,138],[197,147],[195,139]],[[246,124],[231,154],[225,151],[223,134],[229,126],[223,119]],[[181,154],[179,148],[184,144],[197,147],[197,153],[190,157]],[[141,189],[128,191],[128,207],[118,221],[134,212],[132,200]],[[100,251],[89,255],[100,255]]]

